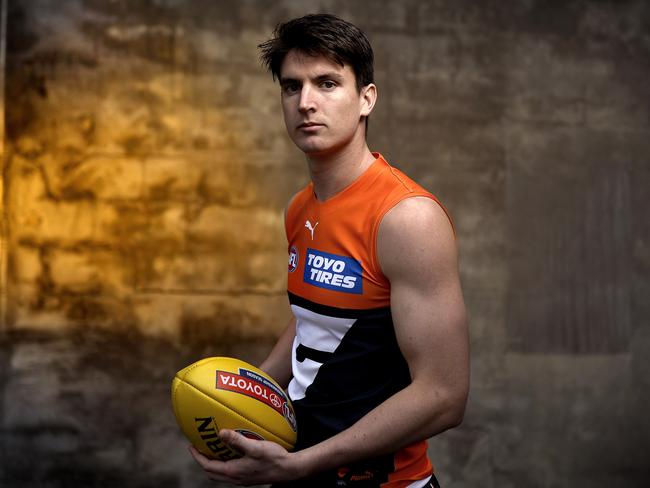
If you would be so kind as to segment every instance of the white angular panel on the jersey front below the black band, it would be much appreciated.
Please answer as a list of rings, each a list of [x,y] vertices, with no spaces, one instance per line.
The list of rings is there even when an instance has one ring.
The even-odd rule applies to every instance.
[[[289,397],[292,401],[305,397],[305,391],[314,382],[321,363],[305,358],[296,359],[299,344],[323,352],[334,352],[356,319],[344,319],[321,315],[298,305],[291,305],[296,317],[296,337],[293,341],[291,361],[293,379],[289,383]]]

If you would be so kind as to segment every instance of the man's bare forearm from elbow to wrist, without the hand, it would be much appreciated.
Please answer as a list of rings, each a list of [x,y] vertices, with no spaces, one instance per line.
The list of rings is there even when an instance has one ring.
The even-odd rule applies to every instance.
[[[315,446],[295,453],[302,476],[394,452],[458,425],[466,394],[432,390],[415,382],[362,417],[356,424]]]

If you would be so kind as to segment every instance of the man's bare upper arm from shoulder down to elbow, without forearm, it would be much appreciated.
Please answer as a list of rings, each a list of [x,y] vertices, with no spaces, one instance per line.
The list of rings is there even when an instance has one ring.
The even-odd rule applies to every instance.
[[[431,408],[421,431],[430,437],[462,421],[469,391],[456,239],[444,210],[426,198],[404,200],[386,216],[379,237],[395,332],[411,373],[409,393]]]

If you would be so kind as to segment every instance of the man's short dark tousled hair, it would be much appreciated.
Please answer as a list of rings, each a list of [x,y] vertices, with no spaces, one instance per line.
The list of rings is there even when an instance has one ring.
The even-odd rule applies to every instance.
[[[273,37],[257,46],[262,64],[280,78],[287,53],[297,49],[310,56],[325,56],[354,71],[357,89],[374,81],[374,54],[365,34],[357,26],[331,14],[310,14],[278,24]]]

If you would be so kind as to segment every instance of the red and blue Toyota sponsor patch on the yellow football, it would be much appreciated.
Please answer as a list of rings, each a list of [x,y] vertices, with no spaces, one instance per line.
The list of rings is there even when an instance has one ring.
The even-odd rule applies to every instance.
[[[293,431],[296,431],[296,415],[287,396],[263,376],[244,368],[239,368],[239,374],[217,370],[217,390],[246,395],[268,405],[282,415]]]

